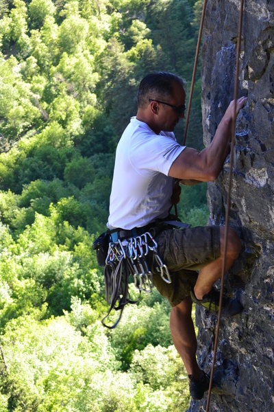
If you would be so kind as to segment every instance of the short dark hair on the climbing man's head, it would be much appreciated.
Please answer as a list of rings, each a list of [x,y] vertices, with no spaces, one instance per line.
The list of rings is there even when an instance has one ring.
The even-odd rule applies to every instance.
[[[182,78],[169,71],[156,71],[145,76],[138,89],[138,107],[145,108],[150,98],[160,99],[172,96],[175,82],[184,87]]]

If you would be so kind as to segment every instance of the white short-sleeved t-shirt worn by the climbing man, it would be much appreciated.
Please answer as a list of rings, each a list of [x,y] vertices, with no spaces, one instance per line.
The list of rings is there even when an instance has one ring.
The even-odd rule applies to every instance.
[[[116,148],[108,227],[132,229],[165,218],[171,207],[173,161],[184,150],[172,132],[132,117]]]

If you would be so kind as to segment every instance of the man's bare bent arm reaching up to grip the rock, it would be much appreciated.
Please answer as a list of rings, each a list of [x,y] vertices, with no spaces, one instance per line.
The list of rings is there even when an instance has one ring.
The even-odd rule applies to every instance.
[[[246,100],[246,98],[237,100],[236,115]],[[185,148],[171,165],[169,176],[183,180],[214,181],[219,176],[223,162],[229,153],[233,113],[234,101],[227,107],[209,146],[201,152],[193,148]]]

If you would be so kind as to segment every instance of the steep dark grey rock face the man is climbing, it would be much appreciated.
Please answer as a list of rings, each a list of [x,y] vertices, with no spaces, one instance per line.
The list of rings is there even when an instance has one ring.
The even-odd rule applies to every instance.
[[[202,106],[205,144],[233,98],[240,0],[208,0],[203,35]],[[221,320],[210,411],[274,411],[274,1],[246,0],[239,95],[248,102],[236,124],[229,224],[242,239],[225,292],[240,293],[244,310]],[[229,157],[208,186],[210,222],[225,218]],[[210,372],[217,317],[197,308],[198,358]],[[206,411],[206,396],[189,412]]]

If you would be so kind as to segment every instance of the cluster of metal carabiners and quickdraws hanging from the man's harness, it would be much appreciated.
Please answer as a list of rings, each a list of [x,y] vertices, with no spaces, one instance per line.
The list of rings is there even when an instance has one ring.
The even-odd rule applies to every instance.
[[[164,282],[171,283],[169,269],[164,264],[158,251],[158,244],[149,231],[140,236],[118,239],[116,242],[109,243],[104,278],[105,299],[110,304],[110,308],[102,319],[106,328],[114,329],[118,325],[125,305],[137,304],[142,291],[151,293],[154,284],[149,260],[152,262],[153,271],[158,272]],[[132,300],[129,295],[130,282],[139,290],[137,300]],[[107,325],[105,319],[109,317],[112,309],[120,310],[119,317],[113,325]]]

